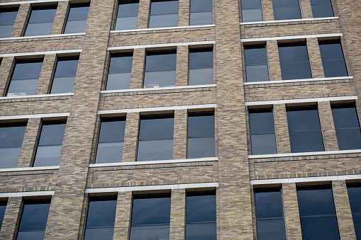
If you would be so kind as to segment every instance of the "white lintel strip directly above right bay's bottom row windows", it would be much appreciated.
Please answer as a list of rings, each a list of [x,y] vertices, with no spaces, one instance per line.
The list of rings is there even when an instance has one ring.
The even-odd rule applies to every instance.
[[[353,179],[361,179],[361,174],[309,177],[309,178],[279,178],[279,179],[251,180],[250,185],[272,184],[272,183],[306,183],[306,182],[308,183],[308,182],[338,181],[338,180],[353,180]]]

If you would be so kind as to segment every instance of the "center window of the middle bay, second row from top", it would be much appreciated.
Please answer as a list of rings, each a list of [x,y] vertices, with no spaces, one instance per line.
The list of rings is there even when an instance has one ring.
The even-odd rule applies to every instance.
[[[147,52],[144,88],[175,86],[176,51]]]

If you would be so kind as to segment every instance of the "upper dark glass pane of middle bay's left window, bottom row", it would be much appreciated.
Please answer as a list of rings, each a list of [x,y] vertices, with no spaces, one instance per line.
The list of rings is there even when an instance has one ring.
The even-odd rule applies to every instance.
[[[88,227],[114,227],[116,199],[90,200],[87,216]]]

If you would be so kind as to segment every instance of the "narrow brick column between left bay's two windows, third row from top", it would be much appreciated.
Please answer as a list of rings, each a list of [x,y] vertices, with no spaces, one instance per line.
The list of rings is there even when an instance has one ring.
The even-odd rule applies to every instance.
[[[33,160],[33,153],[38,139],[40,121],[40,118],[29,118],[28,120],[23,145],[21,146],[20,156],[18,159],[18,168],[28,168]]]

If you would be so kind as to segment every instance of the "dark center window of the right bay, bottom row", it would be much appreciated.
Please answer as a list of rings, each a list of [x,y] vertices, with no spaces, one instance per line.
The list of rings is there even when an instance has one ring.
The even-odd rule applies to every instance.
[[[339,240],[331,187],[297,188],[303,240]]]

